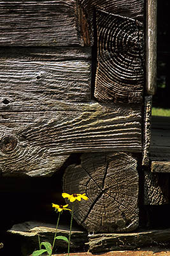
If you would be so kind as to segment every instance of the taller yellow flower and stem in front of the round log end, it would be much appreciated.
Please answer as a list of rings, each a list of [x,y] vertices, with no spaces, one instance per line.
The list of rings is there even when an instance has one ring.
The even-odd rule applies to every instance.
[[[76,200],[78,200],[79,202],[81,201],[81,199],[83,200],[88,200],[89,198],[84,194],[72,194],[69,195],[67,193],[62,193],[62,197],[63,198],[67,198],[69,200],[69,202],[73,203],[72,204],[72,209],[71,209],[71,221],[70,221],[70,228],[69,228],[69,241],[68,241],[68,255],[69,256],[69,248],[70,248],[70,239],[71,239],[71,228],[72,228],[72,224],[73,224],[73,214],[74,214],[74,202]]]

